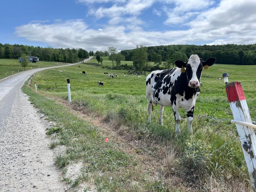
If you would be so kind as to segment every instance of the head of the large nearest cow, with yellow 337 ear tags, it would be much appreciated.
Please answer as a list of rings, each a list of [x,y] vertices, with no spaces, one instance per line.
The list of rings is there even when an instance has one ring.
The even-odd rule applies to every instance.
[[[177,67],[182,68],[186,67],[186,76],[189,82],[189,87],[198,87],[203,66],[208,65],[211,66],[215,63],[216,59],[214,57],[210,57],[206,61],[203,61],[198,57],[198,55],[191,55],[186,63],[183,61],[177,60],[175,64]]]

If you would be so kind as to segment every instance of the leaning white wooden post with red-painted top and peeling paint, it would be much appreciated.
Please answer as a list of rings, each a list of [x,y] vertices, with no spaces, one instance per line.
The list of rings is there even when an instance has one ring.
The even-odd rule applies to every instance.
[[[252,123],[241,82],[227,83],[226,92],[234,120]],[[253,191],[256,192],[256,136],[254,129],[248,125],[236,123],[245,162],[248,167],[251,186],[253,187]]]

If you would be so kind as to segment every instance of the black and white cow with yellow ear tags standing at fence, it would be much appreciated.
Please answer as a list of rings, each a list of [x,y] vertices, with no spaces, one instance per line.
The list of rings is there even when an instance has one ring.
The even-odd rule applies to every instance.
[[[177,67],[167,70],[151,72],[146,78],[146,97],[150,123],[151,110],[154,104],[159,104],[160,123],[163,125],[163,107],[170,106],[176,121],[176,133],[179,134],[179,107],[187,112],[187,125],[189,133],[192,133],[192,120],[195,101],[200,93],[199,82],[203,66],[211,66],[216,59],[211,57],[202,61],[198,55],[191,55],[186,63],[177,60]],[[186,70],[181,73],[182,66]]]

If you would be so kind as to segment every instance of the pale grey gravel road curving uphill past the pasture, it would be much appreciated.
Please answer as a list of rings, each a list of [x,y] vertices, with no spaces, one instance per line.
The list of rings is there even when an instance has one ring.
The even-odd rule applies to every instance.
[[[65,191],[66,188],[59,181],[54,153],[48,146],[51,140],[45,130],[49,123],[40,118],[42,114],[21,91],[25,80],[38,70],[0,80],[0,191]]]

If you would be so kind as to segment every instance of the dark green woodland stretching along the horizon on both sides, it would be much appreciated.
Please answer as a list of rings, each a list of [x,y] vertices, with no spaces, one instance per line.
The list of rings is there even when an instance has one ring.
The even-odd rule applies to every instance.
[[[111,46],[111,45],[110,45]],[[191,54],[197,54],[203,60],[215,57],[216,63],[233,65],[256,65],[256,44],[253,45],[160,45],[145,47],[148,53],[147,61],[156,63],[173,63],[180,59],[186,61]],[[118,49],[115,48],[115,49]],[[79,56],[80,52],[80,56]],[[122,50],[125,61],[133,61],[134,49]],[[83,49],[34,47],[28,45],[9,45],[0,43],[0,58],[18,59],[22,54],[37,56],[40,61],[78,62],[82,55],[109,56],[107,51],[89,51]],[[88,55],[88,56],[89,56]],[[53,57],[54,56],[54,57]],[[87,57],[87,56],[86,56]],[[80,58],[80,59],[79,59]]]

